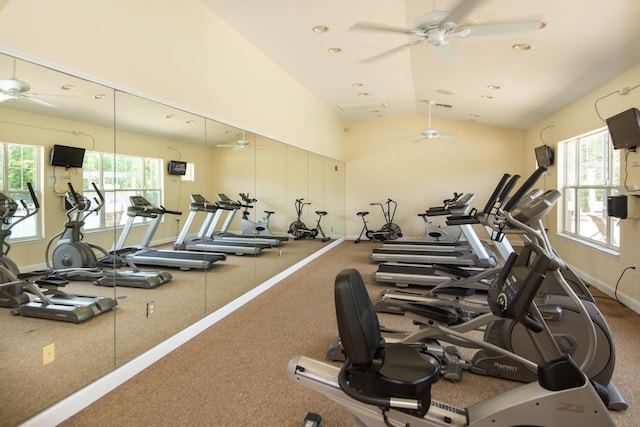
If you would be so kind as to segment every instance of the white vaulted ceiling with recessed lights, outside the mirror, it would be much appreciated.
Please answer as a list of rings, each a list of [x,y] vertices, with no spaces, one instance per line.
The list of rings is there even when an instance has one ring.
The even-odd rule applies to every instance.
[[[368,63],[361,61],[416,37],[356,31],[353,24],[413,27],[419,16],[451,11],[462,0],[202,1],[345,119],[426,115],[424,100],[432,100],[452,106],[434,108],[434,117],[526,129],[640,63],[636,0],[477,0],[465,20],[541,19],[546,26],[452,38],[454,59],[421,43]],[[330,31],[314,33],[316,25]],[[516,43],[532,49],[515,51]],[[342,52],[327,53],[333,47]],[[376,105],[380,111],[372,111]]]

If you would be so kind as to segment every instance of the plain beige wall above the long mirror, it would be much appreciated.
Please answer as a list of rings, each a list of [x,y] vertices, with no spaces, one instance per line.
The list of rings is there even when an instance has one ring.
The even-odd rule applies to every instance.
[[[343,159],[343,122],[199,0],[11,0],[0,49]]]

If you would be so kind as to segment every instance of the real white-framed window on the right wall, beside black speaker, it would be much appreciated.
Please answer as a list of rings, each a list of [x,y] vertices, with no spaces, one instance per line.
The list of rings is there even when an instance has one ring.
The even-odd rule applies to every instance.
[[[559,229],[565,235],[609,249],[620,247],[617,218],[607,216],[607,197],[618,194],[620,150],[607,128],[563,141],[558,177],[563,194]]]

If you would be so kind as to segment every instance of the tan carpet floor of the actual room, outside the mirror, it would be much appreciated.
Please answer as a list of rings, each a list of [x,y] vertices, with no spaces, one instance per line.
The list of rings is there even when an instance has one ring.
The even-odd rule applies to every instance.
[[[369,278],[376,267],[367,254],[375,246],[342,243],[61,425],[294,427],[309,411],[323,417],[322,426],[351,425],[349,413],[290,381],[285,370],[298,354],[325,360],[336,336],[339,271],[359,269],[372,296],[382,289]],[[636,426],[640,315],[610,299],[598,303],[616,341],[614,382],[630,405],[614,417],[619,426]],[[385,326],[406,326],[399,316],[381,317]],[[441,380],[432,394],[465,406],[516,385],[465,373],[459,383]]]

